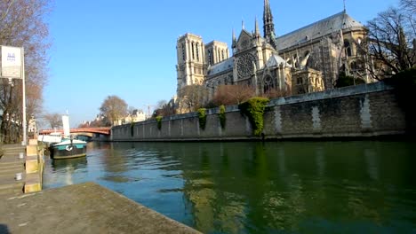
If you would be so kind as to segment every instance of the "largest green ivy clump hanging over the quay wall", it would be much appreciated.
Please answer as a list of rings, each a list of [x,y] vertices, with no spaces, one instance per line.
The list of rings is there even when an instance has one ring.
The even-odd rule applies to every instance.
[[[268,98],[250,98],[246,102],[238,105],[241,113],[248,117],[252,124],[254,136],[260,136],[263,131],[263,115]]]

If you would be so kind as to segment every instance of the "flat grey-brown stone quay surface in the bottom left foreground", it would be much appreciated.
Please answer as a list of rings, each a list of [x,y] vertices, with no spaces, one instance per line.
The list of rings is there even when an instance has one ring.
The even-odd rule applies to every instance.
[[[0,197],[0,233],[199,233],[96,183]]]

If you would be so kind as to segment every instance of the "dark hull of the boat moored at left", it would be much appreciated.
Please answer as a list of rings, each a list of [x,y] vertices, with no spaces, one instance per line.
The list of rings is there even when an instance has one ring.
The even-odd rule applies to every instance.
[[[53,144],[50,151],[54,160],[85,157],[86,144]]]

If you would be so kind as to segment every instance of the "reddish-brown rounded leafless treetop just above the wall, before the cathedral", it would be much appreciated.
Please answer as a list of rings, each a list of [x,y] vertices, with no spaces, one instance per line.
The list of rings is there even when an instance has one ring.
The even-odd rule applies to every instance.
[[[256,91],[247,85],[220,85],[212,102],[214,105],[237,105],[255,96]]]

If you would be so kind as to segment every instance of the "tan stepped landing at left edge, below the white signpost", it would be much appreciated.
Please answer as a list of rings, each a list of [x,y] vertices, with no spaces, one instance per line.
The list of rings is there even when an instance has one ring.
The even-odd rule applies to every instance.
[[[4,144],[2,148],[3,155],[0,156],[0,196],[23,194],[26,177],[25,160],[19,159],[19,154],[26,154],[25,146]],[[21,173],[20,181],[15,180],[16,173]]]

